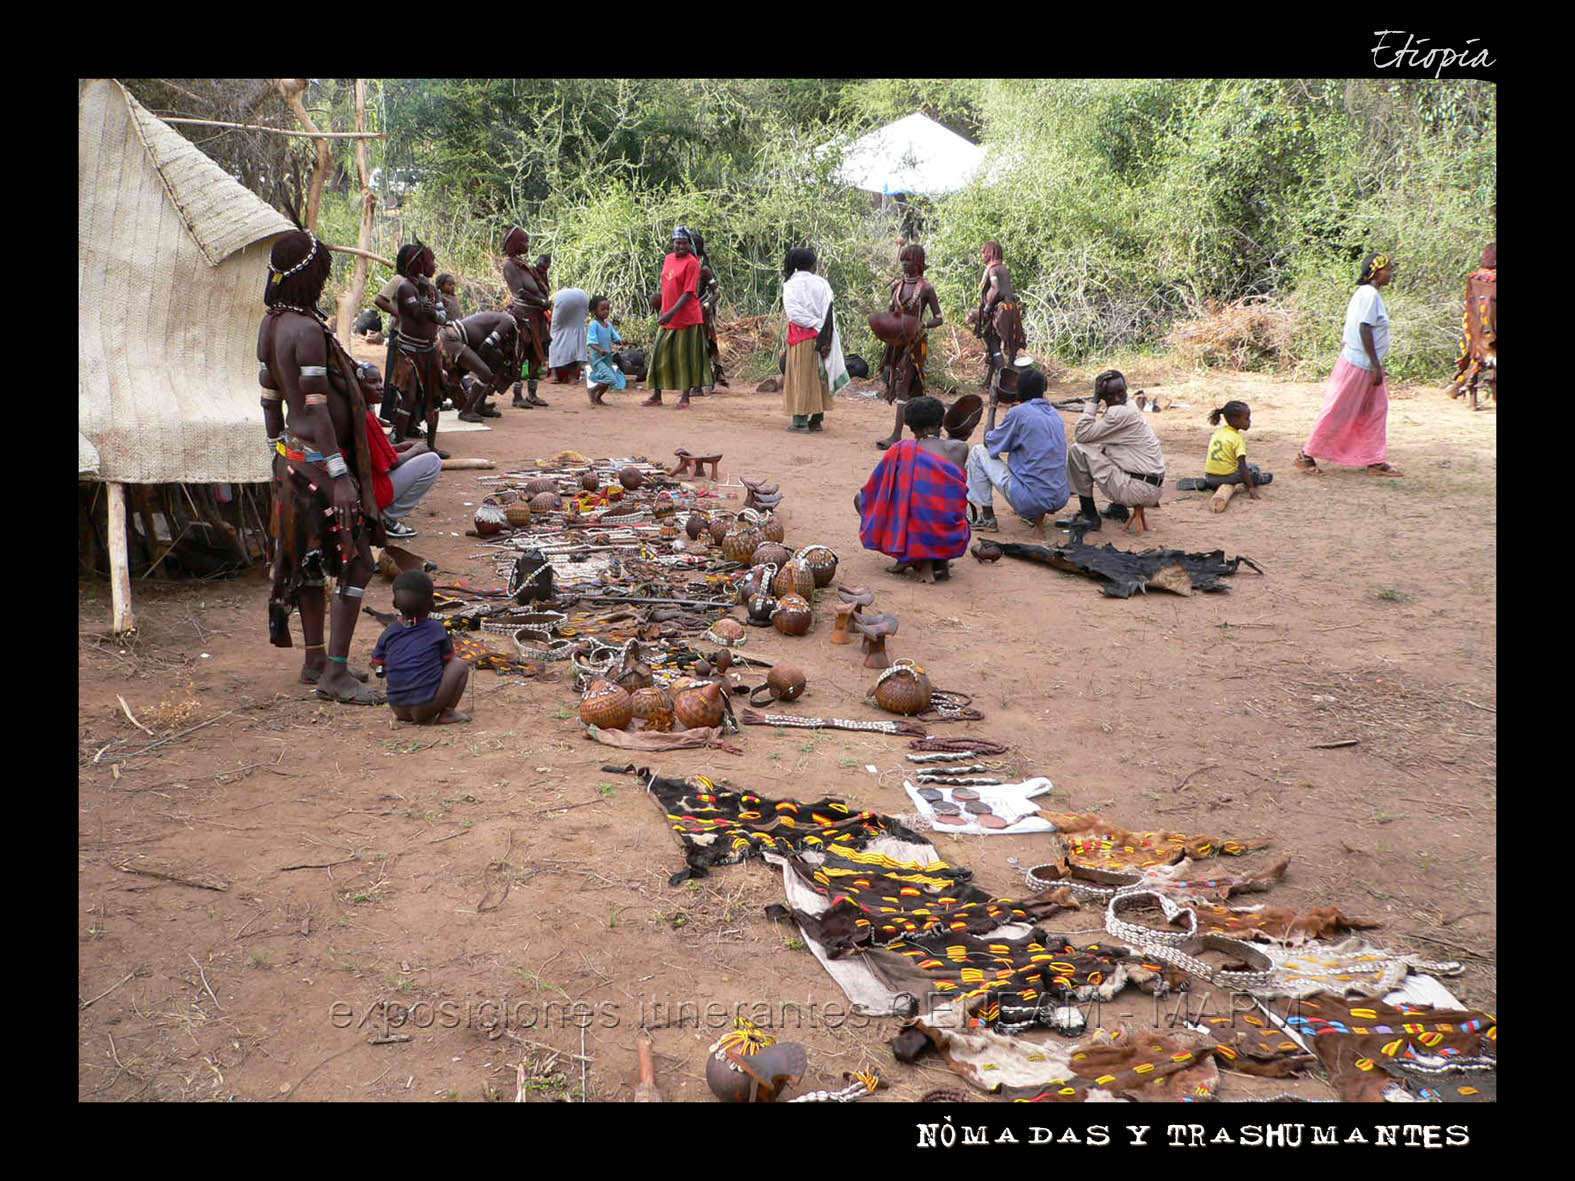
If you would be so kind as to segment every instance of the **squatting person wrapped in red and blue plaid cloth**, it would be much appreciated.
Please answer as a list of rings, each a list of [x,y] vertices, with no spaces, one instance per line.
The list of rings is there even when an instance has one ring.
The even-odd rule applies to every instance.
[[[912,568],[925,583],[950,578],[950,561],[969,550],[969,485],[962,474],[969,446],[940,438],[945,416],[940,398],[912,398],[902,420],[915,438],[891,444],[854,498],[865,548],[896,559],[887,573]]]

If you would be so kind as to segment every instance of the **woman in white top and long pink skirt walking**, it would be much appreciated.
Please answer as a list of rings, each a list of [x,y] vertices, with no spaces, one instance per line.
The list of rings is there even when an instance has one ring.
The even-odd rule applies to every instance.
[[[1389,386],[1383,359],[1389,356],[1389,309],[1378,288],[1391,279],[1394,260],[1386,254],[1367,255],[1356,294],[1345,309],[1340,359],[1329,375],[1323,411],[1296,454],[1296,468],[1304,472],[1321,476],[1318,460],[1328,460],[1367,468],[1373,476],[1402,474],[1388,463]]]

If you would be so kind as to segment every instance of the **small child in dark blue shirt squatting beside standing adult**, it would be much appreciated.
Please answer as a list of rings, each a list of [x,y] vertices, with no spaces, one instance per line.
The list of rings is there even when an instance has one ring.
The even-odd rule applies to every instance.
[[[419,726],[469,721],[460,704],[471,666],[454,658],[454,641],[432,614],[432,578],[406,570],[394,579],[394,608],[400,619],[389,624],[372,650],[372,668],[389,682],[389,707],[400,721]]]

